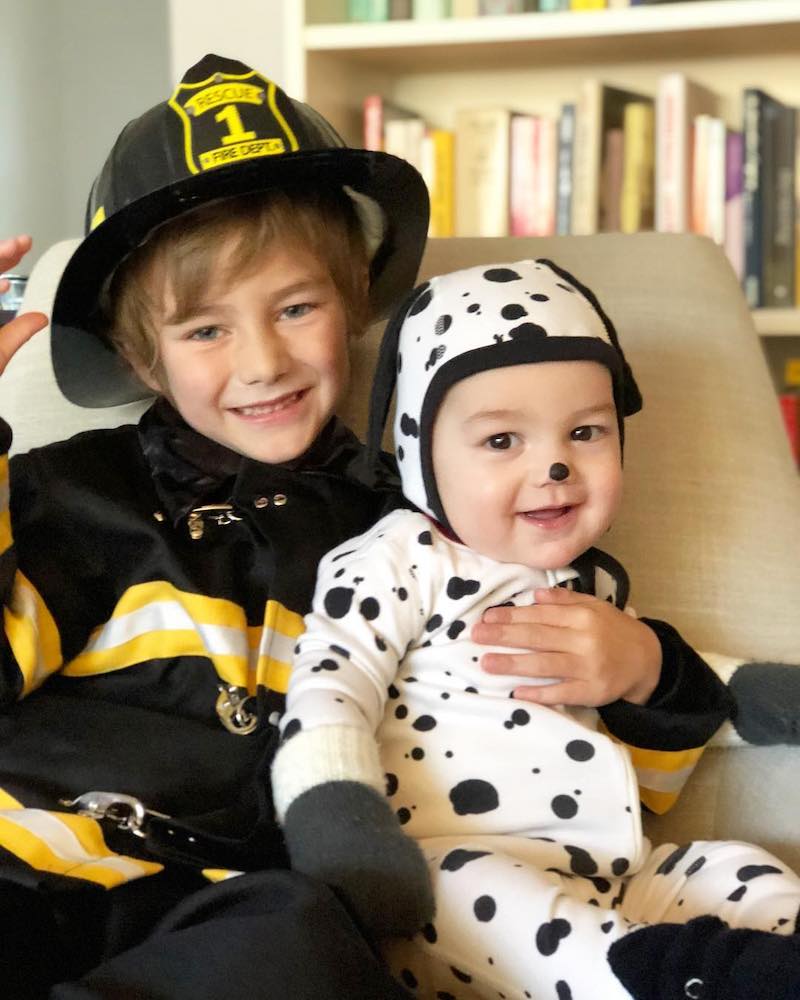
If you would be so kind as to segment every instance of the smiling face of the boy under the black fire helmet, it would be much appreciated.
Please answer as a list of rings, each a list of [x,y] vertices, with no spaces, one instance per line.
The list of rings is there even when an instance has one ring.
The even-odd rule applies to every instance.
[[[221,250],[224,259],[225,248]],[[271,464],[297,458],[347,384],[347,322],[327,268],[292,247],[175,317],[166,292],[160,374],[142,375],[196,431]]]

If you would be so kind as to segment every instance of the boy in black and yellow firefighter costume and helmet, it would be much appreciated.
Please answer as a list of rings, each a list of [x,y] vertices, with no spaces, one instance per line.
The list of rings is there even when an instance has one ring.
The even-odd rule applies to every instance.
[[[87,220],[58,382],[159,398],[0,465],[2,993],[403,996],[285,870],[268,779],[319,559],[400,499],[334,409],[349,340],[413,284],[424,184],[207,56],[123,130]],[[0,331],[2,364],[44,319]]]

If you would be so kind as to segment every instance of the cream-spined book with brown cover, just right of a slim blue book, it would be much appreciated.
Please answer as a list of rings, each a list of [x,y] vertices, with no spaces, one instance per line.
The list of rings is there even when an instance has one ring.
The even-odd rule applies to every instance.
[[[584,80],[577,101],[572,173],[572,232],[595,233],[599,226],[600,178],[610,129],[623,126],[625,105],[652,102],[647,95],[602,80]],[[613,151],[613,150],[612,150]]]

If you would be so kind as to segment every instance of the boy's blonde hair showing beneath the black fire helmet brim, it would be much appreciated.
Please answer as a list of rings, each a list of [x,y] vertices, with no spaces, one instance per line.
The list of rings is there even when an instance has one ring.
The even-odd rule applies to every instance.
[[[219,252],[225,246],[225,256]],[[165,294],[175,321],[203,293],[252,273],[265,254],[303,248],[329,270],[349,337],[369,321],[369,261],[355,208],[344,192],[274,189],[208,202],[156,230],[114,272],[101,309],[107,335],[128,363],[163,385],[158,327]]]

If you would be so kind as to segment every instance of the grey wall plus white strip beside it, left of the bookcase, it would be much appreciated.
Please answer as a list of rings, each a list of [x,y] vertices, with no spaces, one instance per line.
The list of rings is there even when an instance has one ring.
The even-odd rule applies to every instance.
[[[0,0],[0,236],[29,232],[27,272],[83,232],[92,180],[123,125],[207,52],[283,83],[297,0]]]

